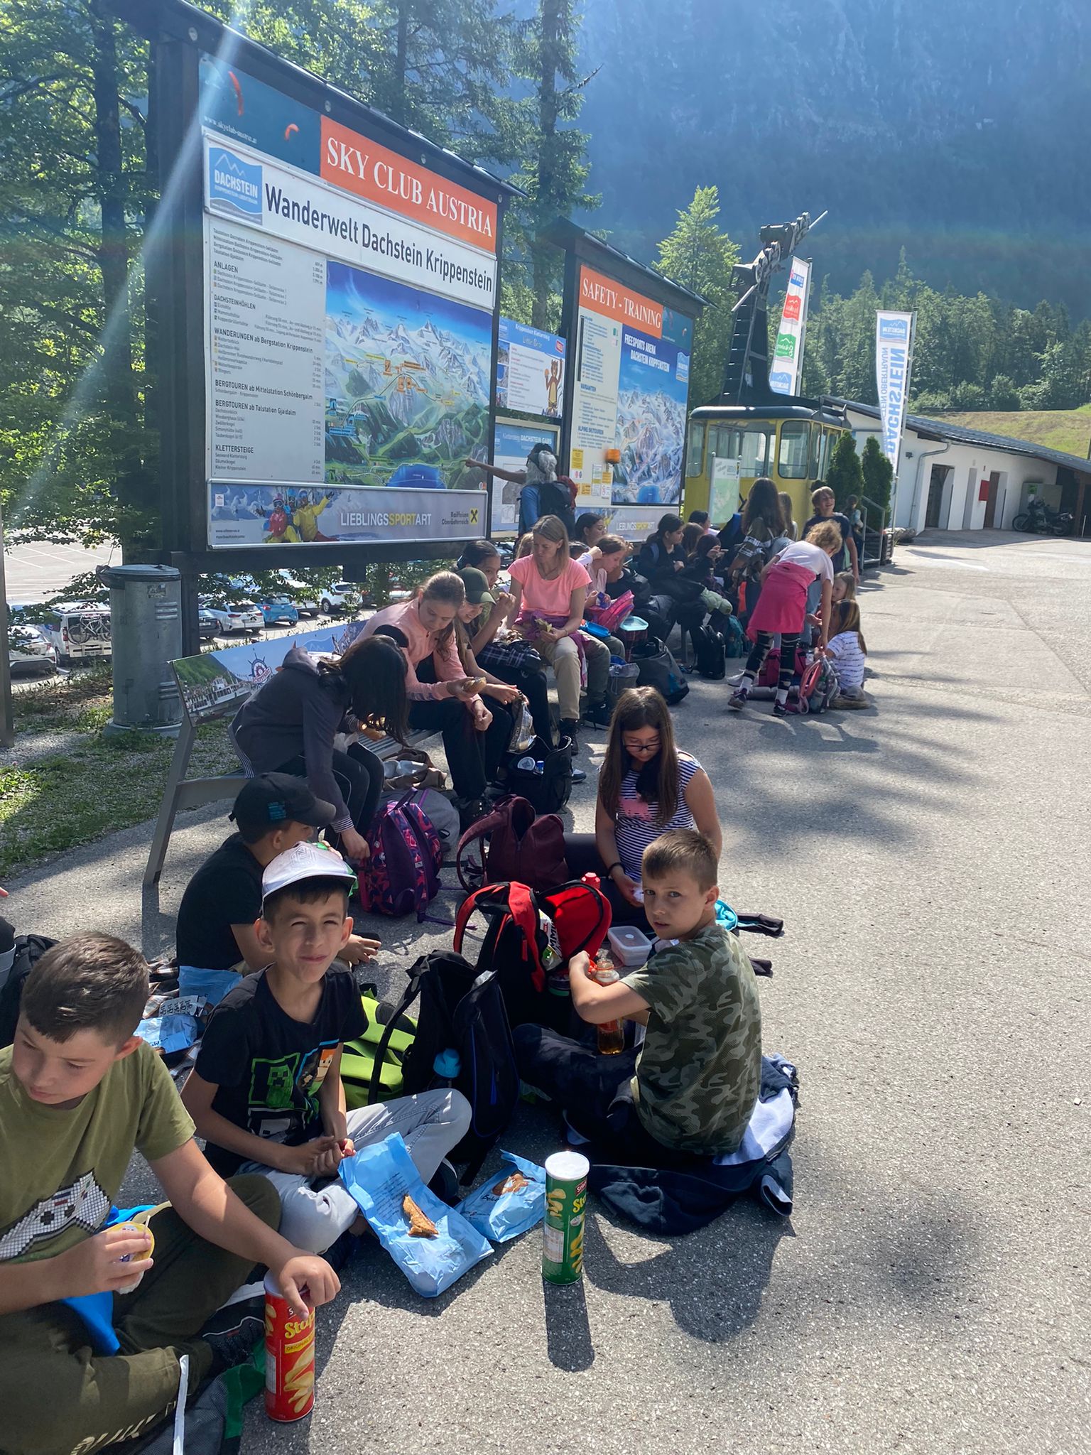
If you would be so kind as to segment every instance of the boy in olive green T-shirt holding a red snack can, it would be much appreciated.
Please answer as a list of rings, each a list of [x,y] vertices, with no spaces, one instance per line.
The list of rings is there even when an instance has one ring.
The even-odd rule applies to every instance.
[[[74,936],[31,970],[0,1052],[0,1410],[3,1448],[19,1455],[84,1455],[156,1424],[183,1355],[189,1394],[247,1360],[259,1318],[233,1310],[217,1334],[201,1330],[256,1263],[300,1314],[339,1288],[329,1263],[276,1232],[263,1179],[224,1184],[205,1161],[170,1074],[132,1035],[147,995],[141,954]],[[113,1208],[134,1147],[170,1199],[141,1213],[154,1257],[145,1228]],[[86,1295],[102,1295],[97,1327]]]

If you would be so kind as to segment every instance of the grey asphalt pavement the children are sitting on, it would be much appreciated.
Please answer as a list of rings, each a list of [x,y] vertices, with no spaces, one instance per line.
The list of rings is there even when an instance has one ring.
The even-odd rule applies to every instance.
[[[314,1414],[272,1426],[256,1401],[244,1448],[1091,1449],[1090,578],[1091,543],[937,534],[861,594],[874,711],[729,716],[697,679],[675,711],[723,893],[787,925],[748,944],[774,960],[765,1045],[803,1081],[793,1216],[740,1203],[666,1243],[594,1209],[580,1286],[543,1285],[534,1231],[435,1301],[368,1248],[319,1317]],[[175,835],[150,952],[225,829],[205,810]],[[140,943],[148,837],[28,874],[4,912]],[[391,989],[444,943],[378,933]],[[505,1145],[560,1147],[550,1110]]]

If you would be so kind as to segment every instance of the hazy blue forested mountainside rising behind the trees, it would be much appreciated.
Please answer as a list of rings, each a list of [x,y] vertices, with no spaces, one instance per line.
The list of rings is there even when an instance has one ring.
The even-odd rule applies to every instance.
[[[743,256],[829,208],[839,288],[905,246],[935,287],[1091,313],[1087,0],[586,0],[582,49],[586,221],[642,260],[714,182]]]

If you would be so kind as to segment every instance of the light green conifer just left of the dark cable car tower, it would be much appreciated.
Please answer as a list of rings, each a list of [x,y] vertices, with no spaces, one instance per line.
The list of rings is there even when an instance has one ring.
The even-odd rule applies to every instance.
[[[690,362],[690,403],[707,404],[723,391],[723,368],[732,340],[732,268],[739,249],[717,227],[720,194],[698,186],[692,202],[678,214],[674,231],[659,243],[658,272],[700,292],[707,307],[694,326]]]

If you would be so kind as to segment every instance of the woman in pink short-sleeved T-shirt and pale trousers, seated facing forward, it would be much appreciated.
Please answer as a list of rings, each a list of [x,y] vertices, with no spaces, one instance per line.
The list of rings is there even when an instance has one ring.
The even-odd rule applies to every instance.
[[[557,679],[560,730],[576,746],[579,690],[583,666],[588,682],[588,722],[610,725],[607,682],[610,650],[594,637],[580,636],[579,624],[588,599],[591,576],[572,559],[569,533],[556,515],[535,521],[529,556],[509,567],[513,602],[508,615],[546,658]],[[412,694],[410,694],[412,695]]]

